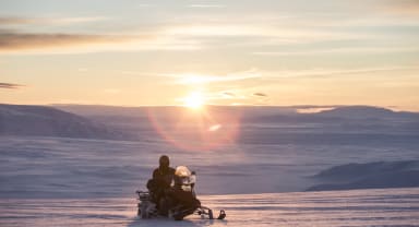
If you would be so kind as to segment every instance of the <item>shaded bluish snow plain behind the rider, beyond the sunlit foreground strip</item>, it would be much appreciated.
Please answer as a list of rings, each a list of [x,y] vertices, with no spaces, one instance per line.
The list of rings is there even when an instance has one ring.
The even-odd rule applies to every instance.
[[[0,198],[123,198],[145,189],[158,157],[197,172],[200,194],[304,191],[333,166],[418,160],[419,140],[395,144],[235,144],[184,152],[161,141],[0,136]]]

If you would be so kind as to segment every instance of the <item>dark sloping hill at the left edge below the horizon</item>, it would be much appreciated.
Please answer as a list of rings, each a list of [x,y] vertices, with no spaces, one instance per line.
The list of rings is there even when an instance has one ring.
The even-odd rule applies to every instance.
[[[91,119],[45,106],[0,104],[0,135],[123,139],[127,134]]]

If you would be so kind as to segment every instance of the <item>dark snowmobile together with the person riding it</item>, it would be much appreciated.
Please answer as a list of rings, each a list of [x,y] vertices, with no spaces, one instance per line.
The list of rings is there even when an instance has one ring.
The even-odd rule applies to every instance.
[[[169,157],[163,155],[153,179],[147,182],[148,192],[136,191],[140,200],[137,215],[142,218],[161,215],[181,220],[188,215],[197,214],[202,218],[207,216],[213,219],[213,211],[202,206],[196,199],[195,183],[194,171],[185,166],[178,166],[175,170],[170,167]],[[225,217],[226,213],[222,210],[217,219]]]

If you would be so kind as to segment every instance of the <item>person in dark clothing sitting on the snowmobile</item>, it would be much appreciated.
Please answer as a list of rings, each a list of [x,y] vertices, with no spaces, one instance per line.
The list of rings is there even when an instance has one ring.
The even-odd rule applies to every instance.
[[[175,169],[170,167],[170,159],[167,155],[161,155],[159,160],[159,167],[153,171],[153,179],[148,180],[147,189],[149,191],[151,200],[157,206],[157,210],[161,211],[161,214],[167,215],[168,204],[165,204],[165,198],[170,190],[170,186],[173,181]]]

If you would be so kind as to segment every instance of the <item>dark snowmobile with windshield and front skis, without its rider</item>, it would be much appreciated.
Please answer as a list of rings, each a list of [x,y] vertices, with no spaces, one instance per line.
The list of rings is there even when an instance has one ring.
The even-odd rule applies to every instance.
[[[182,220],[185,216],[195,214],[201,218],[214,219],[213,211],[201,205],[194,191],[196,177],[185,166],[176,168],[173,183],[160,202],[154,200],[154,192],[136,191],[137,194],[137,216],[145,218],[168,217],[175,220]],[[217,219],[224,219],[226,212],[219,211]]]

